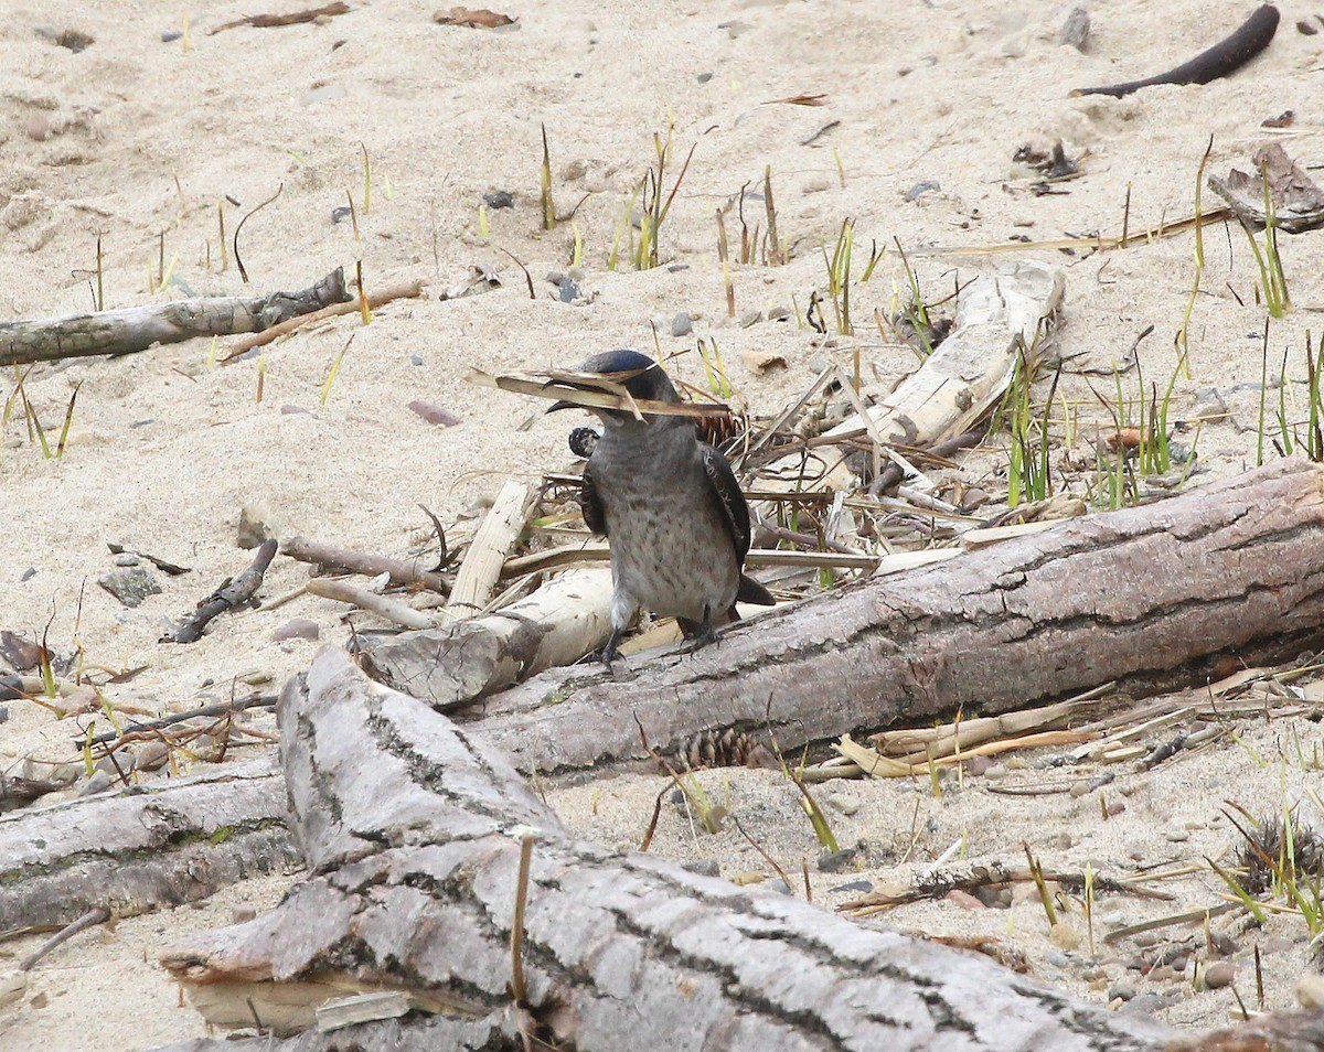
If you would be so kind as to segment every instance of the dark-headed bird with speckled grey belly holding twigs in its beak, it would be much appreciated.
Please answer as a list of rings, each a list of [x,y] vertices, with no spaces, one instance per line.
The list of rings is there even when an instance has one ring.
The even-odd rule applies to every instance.
[[[616,380],[637,400],[681,401],[662,367],[638,351],[593,355],[580,371]],[[571,408],[559,401],[548,412]],[[696,650],[740,619],[736,601],[776,605],[743,573],[749,505],[727,458],[699,441],[694,418],[583,408],[602,422],[579,498],[585,524],[610,545],[612,634],[602,662],[610,668],[641,607],[674,617]]]

